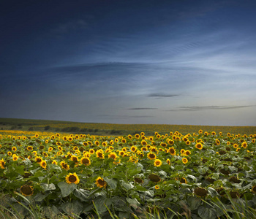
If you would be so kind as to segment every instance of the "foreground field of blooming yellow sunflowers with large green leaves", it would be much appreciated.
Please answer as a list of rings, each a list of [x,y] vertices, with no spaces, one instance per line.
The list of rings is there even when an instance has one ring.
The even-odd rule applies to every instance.
[[[0,215],[255,218],[256,134],[0,134]]]

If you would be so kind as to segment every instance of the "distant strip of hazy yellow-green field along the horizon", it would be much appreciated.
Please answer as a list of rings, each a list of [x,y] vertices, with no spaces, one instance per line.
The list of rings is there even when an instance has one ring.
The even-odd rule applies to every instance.
[[[94,135],[127,135],[143,131],[152,135],[178,131],[181,134],[203,131],[215,131],[223,134],[255,134],[256,126],[189,126],[189,125],[156,125],[156,124],[110,124],[110,123],[75,123],[57,120],[27,120],[0,118],[1,130],[41,131]]]

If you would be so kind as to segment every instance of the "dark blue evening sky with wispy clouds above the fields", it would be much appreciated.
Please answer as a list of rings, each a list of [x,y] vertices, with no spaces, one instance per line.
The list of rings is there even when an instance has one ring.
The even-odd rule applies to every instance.
[[[0,118],[256,126],[255,0],[4,0],[0,18]]]

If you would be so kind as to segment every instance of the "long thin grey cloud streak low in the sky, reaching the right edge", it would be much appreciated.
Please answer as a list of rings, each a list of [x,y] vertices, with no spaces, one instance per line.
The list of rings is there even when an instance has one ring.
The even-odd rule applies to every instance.
[[[255,107],[255,105],[248,106],[203,106],[203,107],[178,107],[178,109],[168,111],[198,111],[198,110],[235,110],[245,107]]]

